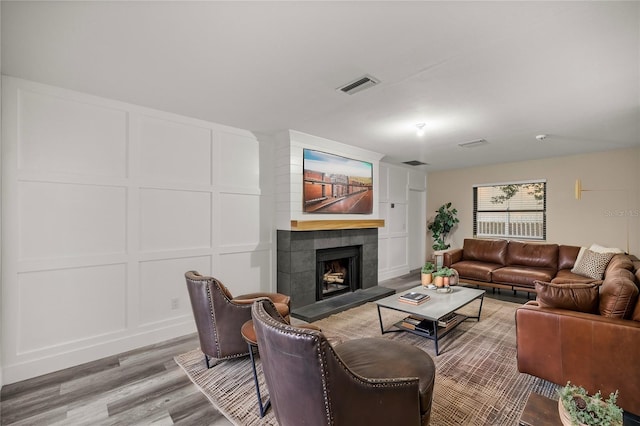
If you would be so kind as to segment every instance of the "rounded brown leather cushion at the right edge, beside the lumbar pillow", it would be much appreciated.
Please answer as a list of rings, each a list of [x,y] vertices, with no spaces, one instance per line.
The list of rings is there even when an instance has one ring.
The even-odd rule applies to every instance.
[[[631,318],[639,293],[633,280],[633,272],[627,269],[616,269],[607,274],[600,288],[600,315]]]

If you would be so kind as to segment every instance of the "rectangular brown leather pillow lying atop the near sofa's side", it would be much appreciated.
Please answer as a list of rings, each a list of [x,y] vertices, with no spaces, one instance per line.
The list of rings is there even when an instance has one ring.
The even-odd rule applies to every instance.
[[[578,312],[598,311],[599,283],[552,284],[536,281],[536,301],[543,308],[569,309]]]

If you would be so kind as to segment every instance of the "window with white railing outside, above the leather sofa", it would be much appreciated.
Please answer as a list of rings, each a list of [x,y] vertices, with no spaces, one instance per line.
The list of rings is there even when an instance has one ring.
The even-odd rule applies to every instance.
[[[474,185],[473,235],[546,239],[546,181]]]

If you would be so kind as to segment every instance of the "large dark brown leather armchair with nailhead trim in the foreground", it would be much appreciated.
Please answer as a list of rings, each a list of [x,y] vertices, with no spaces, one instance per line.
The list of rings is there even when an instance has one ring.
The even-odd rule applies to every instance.
[[[376,338],[332,347],[322,332],[287,324],[266,299],[252,316],[280,426],[429,423],[435,365],[426,352]]]

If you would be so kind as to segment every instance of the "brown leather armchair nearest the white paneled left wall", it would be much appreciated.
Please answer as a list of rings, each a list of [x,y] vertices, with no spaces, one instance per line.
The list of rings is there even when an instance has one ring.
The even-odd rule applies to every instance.
[[[207,368],[216,361],[248,356],[247,343],[240,334],[242,325],[251,319],[251,304],[260,298],[275,303],[280,315],[289,318],[289,296],[279,293],[251,293],[233,297],[217,279],[196,271],[185,274],[191,308]]]

